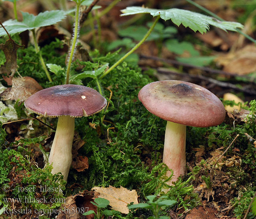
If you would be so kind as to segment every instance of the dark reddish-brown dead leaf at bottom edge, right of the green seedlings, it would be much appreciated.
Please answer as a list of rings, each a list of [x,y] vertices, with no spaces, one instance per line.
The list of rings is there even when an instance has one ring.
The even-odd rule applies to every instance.
[[[187,214],[185,219],[217,219],[215,216],[217,213],[213,208],[197,206]]]

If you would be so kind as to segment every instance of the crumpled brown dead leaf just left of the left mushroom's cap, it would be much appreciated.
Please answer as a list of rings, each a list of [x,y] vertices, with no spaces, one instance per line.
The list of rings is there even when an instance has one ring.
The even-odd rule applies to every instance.
[[[31,95],[42,89],[41,85],[31,77],[17,77],[12,78],[12,87],[7,88],[0,96],[4,100],[25,101]]]

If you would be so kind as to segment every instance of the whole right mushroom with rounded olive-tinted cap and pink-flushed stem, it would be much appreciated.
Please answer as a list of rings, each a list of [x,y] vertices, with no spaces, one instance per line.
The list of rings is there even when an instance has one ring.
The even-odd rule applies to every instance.
[[[207,89],[184,81],[152,82],[140,90],[138,97],[149,112],[167,120],[163,163],[173,170],[168,182],[172,185],[186,171],[186,126],[216,126],[224,121],[225,108]]]

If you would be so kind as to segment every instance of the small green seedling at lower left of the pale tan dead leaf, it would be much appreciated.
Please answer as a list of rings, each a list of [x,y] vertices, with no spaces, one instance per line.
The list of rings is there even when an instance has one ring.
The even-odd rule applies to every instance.
[[[83,215],[94,214],[97,217],[97,219],[101,219],[103,214],[104,215],[112,215],[111,211],[109,211],[107,209],[103,210],[104,208],[108,207],[109,200],[102,199],[102,198],[96,198],[96,199],[94,199],[94,202],[91,201],[91,204],[93,204],[97,207],[97,214],[93,210],[90,210],[90,211],[85,212]]]

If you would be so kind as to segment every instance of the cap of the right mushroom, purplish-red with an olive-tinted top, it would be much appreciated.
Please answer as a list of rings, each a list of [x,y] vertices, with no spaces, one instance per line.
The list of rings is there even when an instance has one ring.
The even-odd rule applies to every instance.
[[[216,126],[225,119],[225,108],[207,89],[185,81],[155,81],[144,86],[139,100],[152,114],[186,126]]]

